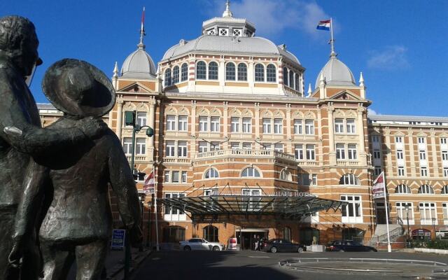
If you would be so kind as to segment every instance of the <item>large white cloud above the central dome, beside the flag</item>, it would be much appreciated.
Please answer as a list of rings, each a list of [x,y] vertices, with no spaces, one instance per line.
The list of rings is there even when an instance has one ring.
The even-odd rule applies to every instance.
[[[204,8],[211,17],[221,16],[225,10],[223,0],[206,1]],[[286,28],[299,29],[313,37],[328,36],[317,31],[319,20],[330,18],[317,3],[300,0],[241,0],[230,4],[235,18],[246,18],[255,24],[257,34],[272,35]],[[335,22],[337,26],[337,22]]]

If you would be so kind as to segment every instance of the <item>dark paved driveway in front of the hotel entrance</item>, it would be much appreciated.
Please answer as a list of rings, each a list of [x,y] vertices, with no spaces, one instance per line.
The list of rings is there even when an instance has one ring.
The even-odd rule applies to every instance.
[[[316,274],[279,267],[288,258],[399,258],[448,262],[440,255],[423,253],[264,253],[256,251],[161,251],[152,253],[135,272],[137,279],[399,279],[388,276]]]

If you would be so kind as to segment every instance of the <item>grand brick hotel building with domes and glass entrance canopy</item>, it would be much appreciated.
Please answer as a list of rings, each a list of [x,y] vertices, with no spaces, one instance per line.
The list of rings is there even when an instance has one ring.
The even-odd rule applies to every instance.
[[[305,92],[299,59],[229,7],[157,67],[143,36],[113,70],[117,102],[104,120],[129,159],[134,149],[138,172],[155,170],[162,246],[237,237],[250,248],[254,234],[385,241],[384,200],[372,199],[381,171],[392,241],[448,237],[448,118],[367,116],[362,73],[356,83],[335,52]],[[44,126],[61,116],[38,106]],[[154,136],[140,132],[133,145],[125,111]],[[141,199],[155,244],[154,199]]]

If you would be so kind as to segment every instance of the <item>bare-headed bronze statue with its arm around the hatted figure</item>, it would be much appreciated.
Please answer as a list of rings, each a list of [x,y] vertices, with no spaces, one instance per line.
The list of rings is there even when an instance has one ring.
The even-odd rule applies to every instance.
[[[31,156],[79,144],[105,130],[104,123],[84,118],[76,127],[44,130],[29,82],[36,66],[38,39],[34,25],[26,18],[0,18],[0,279],[17,278],[17,269],[8,265],[11,235],[24,180],[45,174],[45,167],[34,163]],[[38,206],[34,211],[38,212]],[[36,279],[39,254],[33,230],[23,248],[22,279]]]

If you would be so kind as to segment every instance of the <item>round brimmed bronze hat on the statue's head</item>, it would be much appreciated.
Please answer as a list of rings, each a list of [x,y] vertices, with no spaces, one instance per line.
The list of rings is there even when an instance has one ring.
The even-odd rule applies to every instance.
[[[43,77],[42,90],[59,111],[71,116],[104,116],[116,101],[111,80],[97,67],[78,59],[52,64]]]

